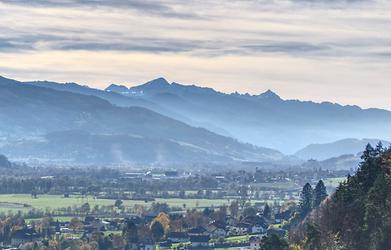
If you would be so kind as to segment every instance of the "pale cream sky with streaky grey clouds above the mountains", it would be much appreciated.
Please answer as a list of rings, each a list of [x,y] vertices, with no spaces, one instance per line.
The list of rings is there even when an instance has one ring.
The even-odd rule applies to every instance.
[[[391,1],[0,0],[0,75],[391,110]]]

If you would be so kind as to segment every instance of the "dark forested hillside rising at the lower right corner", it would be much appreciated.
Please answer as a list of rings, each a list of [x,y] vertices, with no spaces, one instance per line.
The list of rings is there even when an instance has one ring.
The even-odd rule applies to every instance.
[[[357,173],[290,238],[299,249],[391,249],[391,149],[368,145]]]

